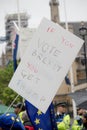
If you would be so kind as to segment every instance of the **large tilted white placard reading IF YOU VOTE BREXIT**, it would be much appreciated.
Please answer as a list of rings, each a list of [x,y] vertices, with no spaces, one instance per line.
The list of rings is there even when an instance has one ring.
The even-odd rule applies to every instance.
[[[83,40],[43,18],[9,87],[46,112]]]

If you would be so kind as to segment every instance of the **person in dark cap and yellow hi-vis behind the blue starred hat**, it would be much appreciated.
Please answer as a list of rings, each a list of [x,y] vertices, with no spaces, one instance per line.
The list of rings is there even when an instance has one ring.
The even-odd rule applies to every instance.
[[[23,103],[18,103],[16,105],[13,105],[13,107],[15,108],[14,109],[15,114],[19,115],[21,121],[23,122],[22,114],[25,111],[25,105]]]

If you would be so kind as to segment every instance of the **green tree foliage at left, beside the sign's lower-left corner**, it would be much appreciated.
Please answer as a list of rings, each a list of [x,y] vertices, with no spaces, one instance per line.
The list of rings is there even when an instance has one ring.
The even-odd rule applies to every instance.
[[[6,68],[0,69],[0,100],[5,105],[10,105],[15,97],[18,95],[12,89],[8,87],[8,84],[13,76],[13,62],[10,62]],[[22,101],[22,97],[19,96],[15,103]]]

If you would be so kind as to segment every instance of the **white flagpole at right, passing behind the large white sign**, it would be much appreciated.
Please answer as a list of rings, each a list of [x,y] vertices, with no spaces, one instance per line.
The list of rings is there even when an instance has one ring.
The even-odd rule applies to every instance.
[[[66,2],[65,0],[63,0],[64,3],[64,12],[65,12],[65,27],[66,30],[68,31],[68,22],[67,22],[67,15],[66,15]],[[73,79],[73,70],[72,70],[72,66],[70,68],[70,80],[71,80],[71,92],[74,92],[74,79]],[[73,104],[73,117],[75,118],[77,115],[77,111],[76,111],[76,103],[75,101],[72,99],[72,104]]]

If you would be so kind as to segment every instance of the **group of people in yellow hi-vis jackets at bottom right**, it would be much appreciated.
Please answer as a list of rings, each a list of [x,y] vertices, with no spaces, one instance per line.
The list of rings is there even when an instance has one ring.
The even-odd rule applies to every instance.
[[[65,102],[56,105],[56,122],[58,130],[87,130],[87,113],[82,108],[77,109],[77,116],[71,122],[71,117],[67,113]]]

